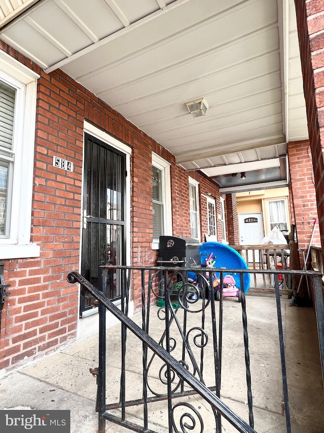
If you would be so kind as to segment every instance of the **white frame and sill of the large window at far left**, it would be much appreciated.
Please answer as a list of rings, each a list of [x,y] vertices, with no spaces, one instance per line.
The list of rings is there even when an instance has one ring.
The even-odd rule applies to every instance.
[[[0,238],[0,259],[39,257],[30,243],[37,79],[39,75],[0,50],[0,80],[16,89],[10,231]]]

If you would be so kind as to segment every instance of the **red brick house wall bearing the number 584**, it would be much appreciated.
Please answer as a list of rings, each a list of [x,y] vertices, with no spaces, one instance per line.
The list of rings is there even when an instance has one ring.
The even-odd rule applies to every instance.
[[[63,72],[46,74],[2,41],[0,49],[41,75],[31,220],[31,241],[41,246],[41,255],[6,260],[11,294],[2,312],[0,369],[9,370],[76,338],[78,286],[68,284],[66,276],[79,270],[84,119],[133,148],[132,264],[155,264],[157,257],[151,249],[152,151],[171,163],[174,235],[190,236],[190,216],[188,174],[176,166],[173,155]],[[72,161],[73,173],[54,168],[53,155]],[[211,182],[197,173],[192,176],[201,178],[201,192],[206,192]],[[209,189],[217,196],[216,186]],[[140,285],[135,281],[133,287],[136,309]]]

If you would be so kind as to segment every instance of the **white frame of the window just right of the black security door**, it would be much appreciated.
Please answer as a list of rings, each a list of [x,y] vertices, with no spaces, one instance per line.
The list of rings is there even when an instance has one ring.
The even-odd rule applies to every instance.
[[[152,152],[152,165],[162,172],[164,234],[172,236],[171,163]],[[153,239],[152,249],[158,250],[159,239]]]

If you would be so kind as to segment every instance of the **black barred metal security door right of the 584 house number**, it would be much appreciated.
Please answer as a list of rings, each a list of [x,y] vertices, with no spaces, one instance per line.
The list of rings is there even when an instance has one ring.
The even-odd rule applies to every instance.
[[[98,267],[126,264],[126,157],[107,144],[85,135],[85,172],[81,273],[98,287]],[[107,284],[110,299],[120,297],[118,273]],[[93,298],[81,296],[80,316],[93,308]]]

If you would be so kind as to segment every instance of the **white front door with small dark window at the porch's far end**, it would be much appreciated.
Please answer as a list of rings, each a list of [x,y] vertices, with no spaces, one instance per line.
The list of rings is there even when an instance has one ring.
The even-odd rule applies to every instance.
[[[259,245],[263,235],[262,213],[239,214],[239,243],[240,245]],[[259,253],[255,260],[259,260]],[[249,251],[249,261],[253,261],[252,251]]]

